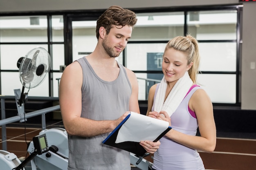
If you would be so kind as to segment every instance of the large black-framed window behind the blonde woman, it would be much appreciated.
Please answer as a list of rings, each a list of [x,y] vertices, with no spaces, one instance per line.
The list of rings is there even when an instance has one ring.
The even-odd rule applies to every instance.
[[[168,40],[189,33],[199,42],[200,86],[213,103],[239,103],[237,22],[240,14],[237,10],[201,9],[137,15],[138,23],[126,47],[125,64],[139,79],[139,100],[147,100],[149,88],[163,77],[161,57]]]

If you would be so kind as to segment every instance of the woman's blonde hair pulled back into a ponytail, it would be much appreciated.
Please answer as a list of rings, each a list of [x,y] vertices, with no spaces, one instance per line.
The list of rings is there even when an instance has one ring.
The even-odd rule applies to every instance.
[[[198,41],[189,34],[187,34],[186,36],[177,36],[167,43],[164,53],[166,50],[171,48],[186,54],[188,60],[187,64],[193,62],[193,65],[188,72],[193,83],[196,84],[200,65]]]

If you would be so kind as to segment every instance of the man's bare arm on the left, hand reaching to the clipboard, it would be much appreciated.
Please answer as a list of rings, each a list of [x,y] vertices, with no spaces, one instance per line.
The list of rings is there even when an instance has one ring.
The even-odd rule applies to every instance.
[[[78,62],[73,62],[65,68],[59,86],[59,102],[67,133],[69,135],[92,137],[111,132],[127,114],[117,120],[107,121],[82,118],[82,81],[82,68]]]

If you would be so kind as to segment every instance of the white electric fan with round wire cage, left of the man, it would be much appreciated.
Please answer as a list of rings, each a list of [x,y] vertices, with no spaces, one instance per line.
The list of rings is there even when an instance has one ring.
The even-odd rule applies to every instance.
[[[34,88],[41,84],[49,73],[51,66],[51,57],[42,47],[29,51],[25,57],[20,57],[17,62],[19,68],[20,82],[22,83],[22,93],[18,99],[18,105],[24,104],[27,100],[25,88]]]

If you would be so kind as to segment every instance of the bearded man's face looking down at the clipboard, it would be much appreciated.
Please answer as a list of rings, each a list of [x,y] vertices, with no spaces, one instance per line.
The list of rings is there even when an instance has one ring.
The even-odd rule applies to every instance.
[[[131,26],[112,26],[108,35],[103,39],[102,46],[110,57],[118,57],[131,35]]]

